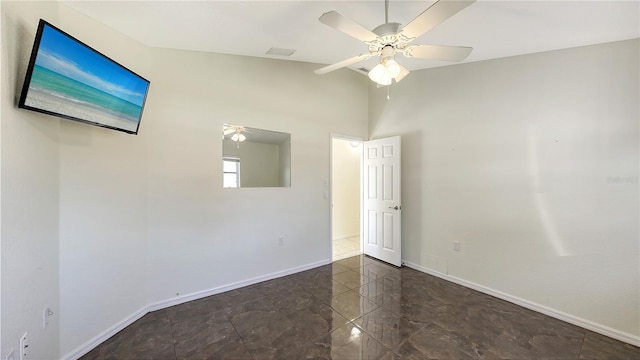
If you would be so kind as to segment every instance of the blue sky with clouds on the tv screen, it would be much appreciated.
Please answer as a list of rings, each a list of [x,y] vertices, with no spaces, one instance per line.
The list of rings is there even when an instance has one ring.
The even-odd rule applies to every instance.
[[[142,106],[148,83],[45,24],[36,65]]]

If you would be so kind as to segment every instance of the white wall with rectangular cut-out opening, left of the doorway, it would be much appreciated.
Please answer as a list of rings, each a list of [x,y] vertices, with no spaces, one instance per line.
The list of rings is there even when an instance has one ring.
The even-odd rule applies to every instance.
[[[315,64],[152,53],[152,95],[165,104],[144,129],[152,301],[329,261],[329,134],[366,135],[366,78],[317,76]],[[224,123],[290,133],[292,186],[223,189]]]

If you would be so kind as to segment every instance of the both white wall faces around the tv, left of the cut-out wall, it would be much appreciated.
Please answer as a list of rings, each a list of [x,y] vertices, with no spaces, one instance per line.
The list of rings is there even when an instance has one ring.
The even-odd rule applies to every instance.
[[[148,50],[59,3],[3,1],[2,16],[2,351],[27,331],[30,357],[51,359],[148,304],[146,146],[15,108],[38,19],[147,77]]]

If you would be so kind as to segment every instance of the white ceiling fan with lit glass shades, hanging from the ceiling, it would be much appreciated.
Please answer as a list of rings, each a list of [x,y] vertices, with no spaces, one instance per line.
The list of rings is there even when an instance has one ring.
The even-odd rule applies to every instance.
[[[397,53],[401,53],[405,57],[418,59],[462,61],[469,56],[472,48],[446,45],[409,45],[409,43],[475,1],[436,1],[410,23],[401,27],[399,23],[389,22],[389,0],[385,0],[385,23],[372,31],[336,11],[329,11],[320,16],[320,22],[363,41],[368,45],[369,52],[325,66],[314,72],[322,75],[367,60],[373,56],[380,56],[380,63],[369,71],[369,78],[379,86],[387,86],[391,85],[393,80],[399,82],[409,74],[407,68],[395,61]]]

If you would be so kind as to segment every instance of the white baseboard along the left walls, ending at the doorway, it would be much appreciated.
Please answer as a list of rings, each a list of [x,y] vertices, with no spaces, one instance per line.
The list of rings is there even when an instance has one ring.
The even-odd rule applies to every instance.
[[[327,264],[330,264],[330,263],[331,263],[331,260],[317,261],[317,262],[306,264],[306,265],[303,265],[303,266],[297,266],[297,267],[286,269],[286,270],[282,270],[282,271],[276,271],[276,272],[273,272],[273,273],[270,273],[270,274],[256,276],[254,278],[238,281],[238,282],[235,282],[235,283],[232,283],[232,284],[218,286],[218,287],[215,287],[215,288],[212,288],[212,289],[198,291],[198,292],[187,294],[187,295],[183,295],[183,296],[180,296],[180,297],[176,297],[176,298],[172,298],[172,299],[168,299],[168,300],[157,301],[157,302],[148,304],[147,306],[143,307],[142,309],[136,311],[135,313],[129,315],[127,318],[125,318],[122,321],[118,322],[117,324],[113,325],[109,329],[105,330],[101,334],[97,335],[93,339],[91,339],[91,340],[87,341],[86,343],[82,344],[77,349],[75,349],[75,350],[69,352],[68,354],[64,355],[61,359],[63,359],[63,360],[76,360],[76,359],[80,358],[81,356],[87,354],[89,351],[93,350],[96,346],[98,346],[101,343],[105,342],[107,339],[109,339],[113,335],[117,334],[119,331],[121,331],[122,329],[124,329],[127,326],[131,325],[136,320],[140,319],[141,317],[145,316],[147,313],[149,313],[151,311],[156,311],[156,310],[164,309],[164,308],[167,308],[167,307],[170,307],[170,306],[183,304],[183,303],[186,303],[186,302],[189,302],[189,301],[202,299],[202,298],[207,297],[207,296],[223,293],[223,292],[229,291],[229,290],[238,289],[238,288],[241,288],[241,287],[244,287],[244,286],[248,286],[248,285],[257,284],[259,282],[272,280],[272,279],[277,279],[279,277],[295,274],[295,273],[298,273],[298,272],[301,272],[301,271],[313,269],[313,268],[316,268],[318,266],[327,265]]]

